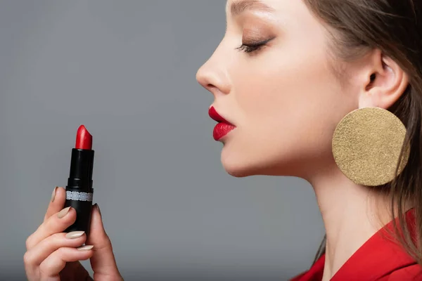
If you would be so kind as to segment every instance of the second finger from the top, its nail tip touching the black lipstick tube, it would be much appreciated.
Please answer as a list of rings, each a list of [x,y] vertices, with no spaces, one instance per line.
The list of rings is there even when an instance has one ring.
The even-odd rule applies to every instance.
[[[32,249],[41,240],[46,239],[54,233],[63,233],[63,231],[75,223],[76,211],[71,207],[62,209],[53,216],[50,216],[38,229],[27,238],[27,250]]]

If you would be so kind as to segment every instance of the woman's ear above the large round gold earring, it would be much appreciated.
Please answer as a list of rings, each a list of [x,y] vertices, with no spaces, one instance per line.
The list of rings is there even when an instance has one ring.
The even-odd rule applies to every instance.
[[[409,85],[409,75],[380,50],[371,52],[362,72],[359,108],[388,109],[402,96]]]

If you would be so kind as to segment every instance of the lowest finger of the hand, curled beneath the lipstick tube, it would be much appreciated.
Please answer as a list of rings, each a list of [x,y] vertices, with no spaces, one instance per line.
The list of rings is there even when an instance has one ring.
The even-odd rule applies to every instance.
[[[65,268],[70,261],[84,261],[92,254],[92,246],[82,246],[79,248],[63,247],[53,251],[40,265],[39,273],[41,280],[60,280],[58,273]]]

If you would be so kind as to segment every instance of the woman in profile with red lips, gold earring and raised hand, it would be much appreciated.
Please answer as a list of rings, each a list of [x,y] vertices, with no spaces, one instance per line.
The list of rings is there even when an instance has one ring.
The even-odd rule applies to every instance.
[[[309,181],[326,228],[293,280],[422,280],[422,2],[229,0],[226,16],[197,74],[222,164]],[[89,278],[66,262],[90,259],[94,280],[122,280],[98,208],[89,237],[62,233],[64,195],[27,239],[28,278]]]

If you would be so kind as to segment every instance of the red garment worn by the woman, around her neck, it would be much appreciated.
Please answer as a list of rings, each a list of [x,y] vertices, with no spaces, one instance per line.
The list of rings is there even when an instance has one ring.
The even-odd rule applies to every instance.
[[[407,211],[411,235],[414,235],[414,209]],[[392,222],[375,233],[357,249],[331,278],[331,281],[410,281],[422,280],[422,268],[399,244],[388,240],[386,230]],[[290,281],[321,281],[325,254],[305,273]]]

